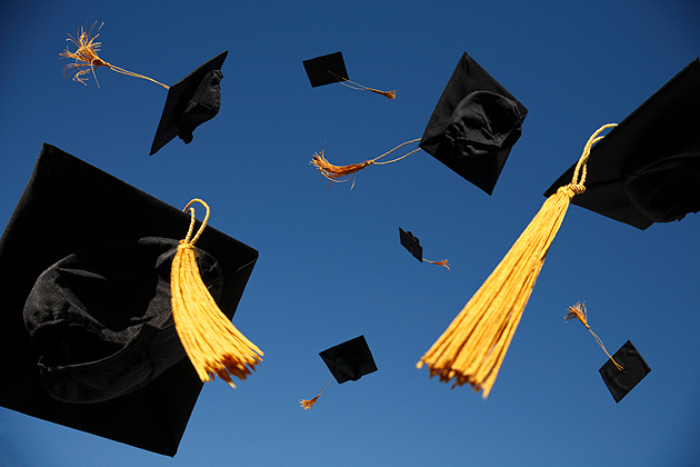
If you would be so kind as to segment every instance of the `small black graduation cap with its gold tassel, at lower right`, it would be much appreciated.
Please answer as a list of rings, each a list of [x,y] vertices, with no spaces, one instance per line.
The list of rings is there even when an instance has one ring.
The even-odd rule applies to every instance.
[[[644,376],[651,371],[644,359],[639,355],[637,348],[629,340],[620,348],[613,356],[608,354],[606,346],[600,337],[593,332],[588,325],[588,315],[586,312],[586,306],[576,304],[573,307],[569,307],[569,311],[564,317],[564,320],[578,319],[586,326],[586,328],[593,335],[596,341],[601,349],[606,352],[609,360],[600,368],[600,376],[602,376],[606,386],[610,389],[610,394],[614,398],[616,403],[619,403]]]

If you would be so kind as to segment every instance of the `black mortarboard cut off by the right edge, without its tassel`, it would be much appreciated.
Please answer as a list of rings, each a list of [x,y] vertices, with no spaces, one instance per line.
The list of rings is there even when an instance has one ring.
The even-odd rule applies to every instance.
[[[646,229],[700,210],[700,63],[696,58],[591,149],[571,202]],[[576,165],[544,192],[568,183]]]

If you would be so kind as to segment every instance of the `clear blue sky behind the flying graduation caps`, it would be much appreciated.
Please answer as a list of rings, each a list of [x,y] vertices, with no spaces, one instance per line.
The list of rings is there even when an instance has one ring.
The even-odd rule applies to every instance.
[[[229,50],[221,111],[190,145],[148,156],[162,88],[63,79],[67,34],[94,21],[102,58],[170,85]],[[697,2],[3,0],[0,43],[1,225],[43,142],[174,207],[203,198],[260,251],[234,324],[266,354],[236,390],[204,386],[174,458],[0,408],[0,466],[700,463],[697,215],[640,231],[572,206],[489,399],[414,367],[588,137],[700,53]],[[338,50],[397,99],[312,89],[301,61]],[[313,152],[344,165],[420,138],[464,51],[529,109],[493,195],[422,151],[327,189]],[[399,227],[452,269],[411,258]],[[583,300],[608,349],[631,339],[652,369],[618,405],[604,354],[563,320]],[[361,334],[379,371],[302,410],[328,375],[318,352]]]

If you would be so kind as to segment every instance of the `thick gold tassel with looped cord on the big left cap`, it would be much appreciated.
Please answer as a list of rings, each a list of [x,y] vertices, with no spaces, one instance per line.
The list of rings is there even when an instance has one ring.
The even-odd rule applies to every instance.
[[[207,208],[207,216],[194,237],[193,202]],[[236,388],[231,376],[246,379],[256,365],[262,361],[262,351],[246,338],[219,309],[207,290],[197,266],[194,244],[207,227],[209,206],[201,199],[191,200],[183,209],[190,209],[190,229],[180,240],[172,260],[170,289],[172,294],[172,318],[192,366],[206,382],[214,375]]]

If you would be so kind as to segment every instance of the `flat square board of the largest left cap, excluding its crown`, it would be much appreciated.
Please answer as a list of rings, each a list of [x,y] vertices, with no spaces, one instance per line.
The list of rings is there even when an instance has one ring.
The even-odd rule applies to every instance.
[[[37,365],[41,349],[32,345],[23,309],[39,276],[63,258],[97,244],[143,237],[180,240],[189,223],[180,209],[43,145],[0,238],[0,406],[173,456],[202,388],[189,359],[123,396],[91,404],[61,401],[44,387]],[[231,318],[258,251],[209,226],[197,247],[221,268],[218,304]]]

